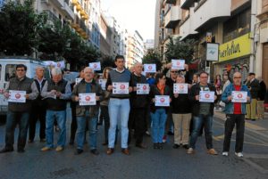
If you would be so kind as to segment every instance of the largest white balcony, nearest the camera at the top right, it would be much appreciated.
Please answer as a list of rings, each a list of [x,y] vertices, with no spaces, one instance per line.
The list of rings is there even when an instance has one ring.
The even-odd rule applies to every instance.
[[[201,0],[196,3],[194,13],[190,13],[194,17],[193,28],[201,31],[205,27],[226,20],[230,17],[230,4],[231,0]]]

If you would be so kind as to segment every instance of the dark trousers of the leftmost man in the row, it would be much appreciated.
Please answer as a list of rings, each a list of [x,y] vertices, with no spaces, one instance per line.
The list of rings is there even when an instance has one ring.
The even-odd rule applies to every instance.
[[[14,130],[17,123],[19,124],[20,128],[18,136],[18,149],[24,149],[29,125],[29,112],[7,112],[5,129],[5,148],[7,149],[13,149]]]

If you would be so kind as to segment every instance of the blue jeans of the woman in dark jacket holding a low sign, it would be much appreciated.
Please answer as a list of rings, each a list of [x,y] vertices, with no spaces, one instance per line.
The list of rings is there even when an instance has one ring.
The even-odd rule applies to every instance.
[[[151,112],[153,142],[163,142],[164,126],[167,119],[165,109],[157,109]]]

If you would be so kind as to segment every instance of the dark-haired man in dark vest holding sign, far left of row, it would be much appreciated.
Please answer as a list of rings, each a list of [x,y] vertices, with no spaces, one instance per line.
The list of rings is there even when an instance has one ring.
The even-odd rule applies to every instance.
[[[11,90],[26,92],[25,102],[8,102],[8,112],[6,118],[6,128],[5,128],[5,146],[0,153],[13,151],[14,144],[14,130],[19,124],[19,136],[18,136],[18,152],[24,152],[28,124],[29,124],[29,111],[31,108],[30,100],[34,100],[38,97],[37,85],[32,79],[26,77],[27,67],[23,64],[16,66],[16,77],[10,79],[6,90],[4,90],[4,97],[11,97]],[[21,99],[21,94],[15,94],[16,99]]]

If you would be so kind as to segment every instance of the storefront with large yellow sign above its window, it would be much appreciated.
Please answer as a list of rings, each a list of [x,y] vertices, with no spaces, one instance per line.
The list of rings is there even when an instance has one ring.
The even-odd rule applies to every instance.
[[[219,51],[219,61],[214,63],[214,75],[227,72],[232,77],[235,72],[239,71],[244,81],[249,73],[250,33],[220,45]]]

